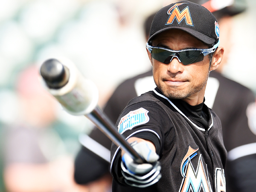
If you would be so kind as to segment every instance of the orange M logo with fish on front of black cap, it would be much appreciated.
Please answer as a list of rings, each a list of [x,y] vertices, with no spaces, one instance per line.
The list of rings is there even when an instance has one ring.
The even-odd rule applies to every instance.
[[[187,25],[192,25],[193,26],[193,22],[192,22],[192,18],[191,18],[191,15],[190,15],[189,7],[187,6],[181,12],[180,12],[180,9],[178,8],[178,6],[183,5],[183,4],[186,4],[186,3],[176,3],[174,6],[169,8],[169,10],[167,11],[167,14],[169,14],[170,17],[169,17],[168,21],[166,22],[166,25],[172,24],[172,22],[176,18],[178,24],[180,24],[180,22],[183,19],[185,19]]]

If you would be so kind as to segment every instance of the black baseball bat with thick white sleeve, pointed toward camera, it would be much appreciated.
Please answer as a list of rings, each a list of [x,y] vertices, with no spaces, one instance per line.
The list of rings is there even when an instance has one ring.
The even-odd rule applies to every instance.
[[[112,122],[97,106],[99,93],[96,85],[85,79],[76,66],[67,59],[48,59],[40,68],[41,82],[49,93],[71,115],[84,115],[134,161],[144,159],[118,133]]]

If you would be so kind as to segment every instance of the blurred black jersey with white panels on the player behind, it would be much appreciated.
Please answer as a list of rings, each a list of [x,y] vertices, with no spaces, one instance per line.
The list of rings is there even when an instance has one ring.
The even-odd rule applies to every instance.
[[[108,100],[104,108],[105,114],[115,124],[119,114],[132,98],[143,93],[145,88],[147,88],[146,91],[155,88],[153,82],[152,71],[125,80]],[[256,191],[256,151],[254,150],[256,148],[256,135],[253,134],[256,133],[256,104],[253,92],[220,73],[211,71],[205,97],[207,106],[212,108],[221,120],[224,145],[227,148],[228,157],[230,157],[227,159],[225,168],[227,192]],[[90,138],[110,150],[111,140],[97,128],[90,133]],[[93,146],[93,144],[91,145]],[[248,151],[249,154],[244,153],[245,151]],[[93,165],[92,163],[84,164],[86,159],[82,158],[81,153],[86,157],[92,156],[95,159],[95,161],[90,161],[93,162]],[[91,170],[96,167],[95,170],[89,171],[89,175],[94,173],[96,176],[109,169],[109,164],[104,164],[105,167],[102,169],[103,164],[100,163],[102,157],[93,153],[95,152],[91,152],[86,147],[82,147],[79,153],[76,170],[81,173],[77,175],[77,178],[82,181],[82,184],[96,178],[87,177],[88,169]],[[96,154],[103,153],[97,151]]]

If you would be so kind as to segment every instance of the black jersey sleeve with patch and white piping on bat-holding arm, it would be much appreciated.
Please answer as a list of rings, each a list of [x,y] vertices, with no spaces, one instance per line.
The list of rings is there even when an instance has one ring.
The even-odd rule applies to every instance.
[[[160,105],[156,102],[147,101],[125,108],[116,122],[116,128],[125,139],[138,137],[153,142],[157,153],[160,154],[164,143],[164,135],[172,129],[172,122]],[[125,184],[122,181],[120,157],[120,148],[112,143],[111,174],[115,181]]]

